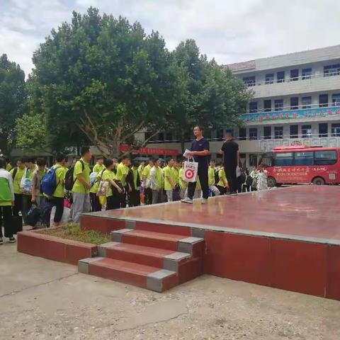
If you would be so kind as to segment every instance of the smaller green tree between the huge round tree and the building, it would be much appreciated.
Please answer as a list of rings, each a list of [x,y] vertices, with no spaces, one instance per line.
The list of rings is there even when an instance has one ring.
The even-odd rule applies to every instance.
[[[194,125],[205,129],[242,125],[251,92],[232,72],[215,60],[201,55],[195,40],[181,42],[173,52],[174,61],[183,69],[184,90],[173,108],[172,124],[179,134],[182,149],[186,133]]]

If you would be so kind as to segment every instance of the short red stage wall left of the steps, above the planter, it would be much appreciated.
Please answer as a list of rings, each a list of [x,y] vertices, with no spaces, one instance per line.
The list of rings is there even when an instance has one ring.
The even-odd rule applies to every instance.
[[[103,232],[103,234],[110,234],[114,230],[125,228],[125,221],[81,215],[80,225],[83,230],[96,230],[97,232]]]

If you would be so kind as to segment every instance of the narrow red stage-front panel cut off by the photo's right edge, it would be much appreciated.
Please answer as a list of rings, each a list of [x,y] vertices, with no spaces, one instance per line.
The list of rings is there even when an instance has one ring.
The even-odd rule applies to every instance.
[[[326,297],[340,300],[340,246],[327,247]]]

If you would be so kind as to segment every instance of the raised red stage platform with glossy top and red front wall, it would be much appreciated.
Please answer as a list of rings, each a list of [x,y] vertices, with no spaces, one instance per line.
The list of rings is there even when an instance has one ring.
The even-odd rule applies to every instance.
[[[81,227],[201,237],[204,272],[340,300],[339,186],[295,186],[81,217]]]

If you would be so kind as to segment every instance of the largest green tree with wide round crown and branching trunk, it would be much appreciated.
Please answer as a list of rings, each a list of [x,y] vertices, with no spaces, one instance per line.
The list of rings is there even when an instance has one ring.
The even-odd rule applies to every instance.
[[[181,92],[180,67],[159,33],[96,8],[52,30],[33,62],[31,107],[45,113],[54,149],[78,139],[116,155],[135,132],[165,128]]]

